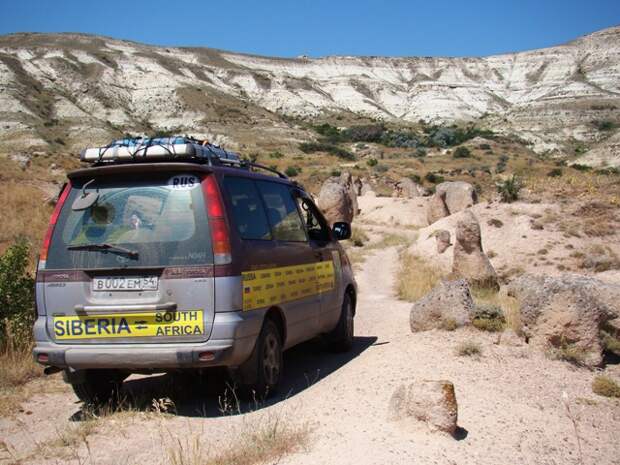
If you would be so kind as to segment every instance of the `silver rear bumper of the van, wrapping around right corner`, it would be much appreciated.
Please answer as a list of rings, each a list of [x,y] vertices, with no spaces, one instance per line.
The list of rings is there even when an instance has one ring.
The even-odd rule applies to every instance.
[[[44,365],[83,369],[175,369],[238,366],[248,359],[263,321],[263,312],[216,313],[211,337],[202,343],[161,344],[56,344],[37,341],[35,360],[47,355]],[[43,322],[44,324],[44,322]],[[201,360],[209,352],[209,360]]]

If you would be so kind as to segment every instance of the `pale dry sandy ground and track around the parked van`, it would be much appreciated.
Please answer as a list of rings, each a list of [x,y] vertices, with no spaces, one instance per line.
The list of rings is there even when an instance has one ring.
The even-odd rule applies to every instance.
[[[177,439],[198,439],[213,451],[244,428],[277,417],[310,426],[308,446],[283,464],[620,464],[620,402],[592,393],[595,372],[548,360],[527,346],[497,344],[496,335],[471,329],[411,334],[410,304],[393,291],[399,253],[395,247],[374,250],[358,272],[354,350],[333,355],[316,341],[292,349],[285,356],[283,394],[269,405],[221,416],[216,394],[182,394],[177,415],[117,413],[97,422],[88,448],[50,449],[45,444],[79,424],[80,411],[73,394],[53,379],[45,384],[50,393],[30,399],[16,418],[0,419],[0,439],[22,463],[157,464],[168,462],[166,450]],[[482,354],[455,355],[455,347],[469,340],[481,344]],[[421,379],[454,382],[457,439],[387,420],[395,388]],[[125,384],[163,397],[171,395],[165,380]],[[0,463],[16,461],[0,457]]]

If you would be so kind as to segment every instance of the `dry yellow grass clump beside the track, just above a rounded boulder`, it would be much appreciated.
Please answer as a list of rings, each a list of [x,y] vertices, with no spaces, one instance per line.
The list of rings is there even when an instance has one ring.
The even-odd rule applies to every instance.
[[[411,253],[401,257],[400,269],[397,273],[396,291],[398,297],[415,302],[433,289],[443,274],[425,260]]]

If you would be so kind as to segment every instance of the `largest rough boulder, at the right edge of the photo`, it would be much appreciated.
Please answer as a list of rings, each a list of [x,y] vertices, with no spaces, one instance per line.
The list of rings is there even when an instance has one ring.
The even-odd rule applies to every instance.
[[[520,302],[531,344],[568,351],[584,365],[601,364],[601,329],[620,318],[619,285],[576,274],[526,274],[509,284],[508,295]]]

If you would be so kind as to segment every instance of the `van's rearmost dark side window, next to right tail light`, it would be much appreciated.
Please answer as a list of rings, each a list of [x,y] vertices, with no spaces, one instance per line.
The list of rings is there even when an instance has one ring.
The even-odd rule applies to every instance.
[[[232,204],[232,216],[242,239],[271,239],[267,216],[254,181],[226,177],[224,187]]]

